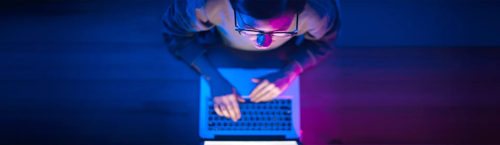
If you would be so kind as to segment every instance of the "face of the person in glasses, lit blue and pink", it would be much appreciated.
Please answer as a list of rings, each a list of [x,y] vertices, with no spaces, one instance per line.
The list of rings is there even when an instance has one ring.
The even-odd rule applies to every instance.
[[[264,32],[286,32],[290,27],[290,24],[293,21],[295,16],[294,13],[285,13],[276,18],[266,19],[266,20],[258,20],[251,16],[244,14],[236,14],[237,22],[239,27],[243,29],[250,30],[258,30]],[[262,35],[259,37],[247,37],[248,40],[255,46],[257,49],[267,49],[274,41],[275,38],[272,38],[270,35]]]

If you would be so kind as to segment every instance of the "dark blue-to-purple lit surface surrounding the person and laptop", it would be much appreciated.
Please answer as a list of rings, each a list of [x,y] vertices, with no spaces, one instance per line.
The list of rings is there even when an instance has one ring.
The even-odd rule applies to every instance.
[[[197,144],[169,2],[0,1],[0,144]],[[499,1],[340,4],[339,49],[300,77],[304,144],[500,144]]]

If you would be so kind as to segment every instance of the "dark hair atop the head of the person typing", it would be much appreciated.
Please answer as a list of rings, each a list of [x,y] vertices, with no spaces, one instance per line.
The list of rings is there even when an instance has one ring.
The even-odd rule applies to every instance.
[[[305,0],[229,0],[232,8],[255,19],[270,19],[285,12],[302,13]]]

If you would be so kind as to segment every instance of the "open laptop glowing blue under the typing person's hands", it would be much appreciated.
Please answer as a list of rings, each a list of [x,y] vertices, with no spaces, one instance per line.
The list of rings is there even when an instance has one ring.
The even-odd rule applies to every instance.
[[[258,78],[279,69],[219,68],[240,95],[246,99],[239,103],[241,119],[233,122],[220,117],[213,110],[210,86],[200,76],[199,137],[201,145],[299,145],[300,85],[299,77],[274,100],[253,103],[248,95],[257,85]]]

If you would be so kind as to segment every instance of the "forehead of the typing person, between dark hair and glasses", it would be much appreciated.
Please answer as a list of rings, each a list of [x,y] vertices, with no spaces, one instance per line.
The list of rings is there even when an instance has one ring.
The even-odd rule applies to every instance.
[[[255,19],[245,14],[240,14],[240,15],[241,15],[241,20],[243,20],[243,22],[248,26],[260,31],[267,31],[267,32],[287,28],[288,26],[290,26],[295,16],[292,13],[285,13],[275,18],[262,20],[262,19]]]

